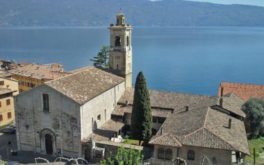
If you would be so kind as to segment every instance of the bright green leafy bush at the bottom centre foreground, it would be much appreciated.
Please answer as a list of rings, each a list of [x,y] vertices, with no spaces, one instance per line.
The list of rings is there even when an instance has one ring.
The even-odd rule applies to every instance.
[[[139,165],[142,164],[144,156],[141,150],[134,150],[133,148],[124,148],[119,146],[115,160],[119,165]],[[113,165],[115,161],[110,157],[100,162],[101,165]]]

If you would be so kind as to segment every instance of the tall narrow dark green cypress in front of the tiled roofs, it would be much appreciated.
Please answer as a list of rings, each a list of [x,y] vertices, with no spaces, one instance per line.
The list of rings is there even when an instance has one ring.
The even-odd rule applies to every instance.
[[[147,141],[151,137],[152,114],[149,90],[142,71],[135,80],[135,92],[131,117],[131,134],[133,138]]]

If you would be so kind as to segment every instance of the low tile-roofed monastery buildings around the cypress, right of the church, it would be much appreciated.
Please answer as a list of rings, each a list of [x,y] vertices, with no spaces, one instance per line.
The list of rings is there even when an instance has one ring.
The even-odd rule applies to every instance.
[[[154,146],[151,164],[172,164],[181,157],[195,165],[206,155],[224,165],[250,154],[245,113],[240,110],[244,101],[236,94],[216,97],[149,90],[149,96],[152,132],[157,132],[149,141]],[[133,89],[127,88],[117,103],[112,118],[130,125]]]

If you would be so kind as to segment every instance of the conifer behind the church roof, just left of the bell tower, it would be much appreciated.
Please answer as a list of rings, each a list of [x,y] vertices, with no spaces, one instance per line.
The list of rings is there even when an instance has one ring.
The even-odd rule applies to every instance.
[[[108,69],[109,67],[109,46],[101,46],[101,50],[97,53],[97,56],[91,59],[94,62],[94,67],[103,67]]]

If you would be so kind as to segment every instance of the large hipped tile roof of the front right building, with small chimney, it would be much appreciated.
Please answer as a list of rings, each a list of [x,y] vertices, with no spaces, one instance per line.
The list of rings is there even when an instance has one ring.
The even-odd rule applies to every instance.
[[[231,128],[228,128],[229,119]],[[195,105],[188,111],[178,110],[165,120],[162,127],[164,133],[176,137],[185,146],[238,150],[249,155],[244,122],[211,107]]]

